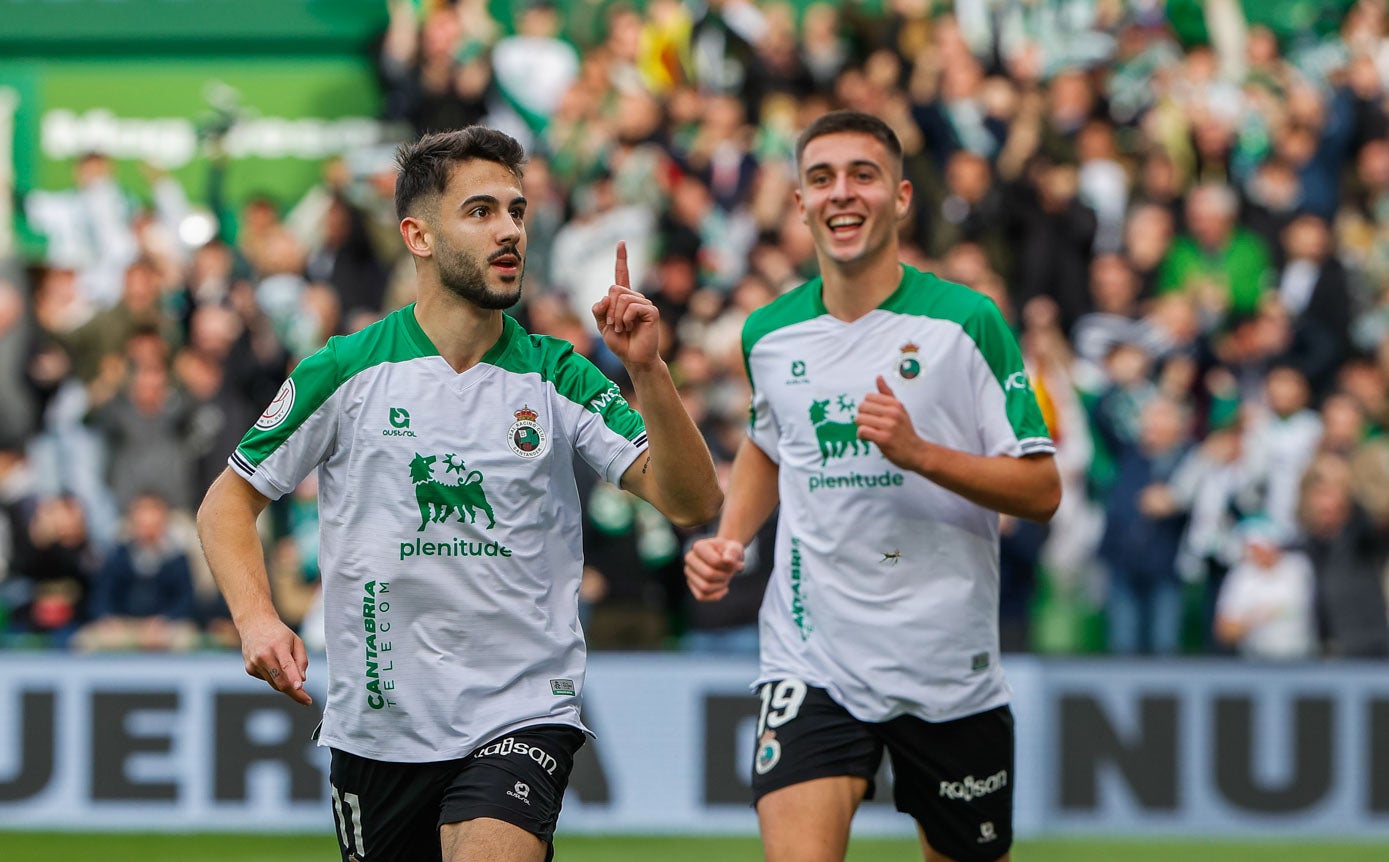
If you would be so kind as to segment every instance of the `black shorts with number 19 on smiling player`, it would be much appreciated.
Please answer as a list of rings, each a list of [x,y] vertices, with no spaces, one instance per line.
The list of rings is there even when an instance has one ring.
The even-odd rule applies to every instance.
[[[833,776],[868,780],[886,748],[897,811],[921,825],[936,851],[960,862],[997,859],[1013,845],[1013,711],[953,722],[906,715],[861,722],[824,688],[795,679],[765,683],[753,757],[753,797]]]

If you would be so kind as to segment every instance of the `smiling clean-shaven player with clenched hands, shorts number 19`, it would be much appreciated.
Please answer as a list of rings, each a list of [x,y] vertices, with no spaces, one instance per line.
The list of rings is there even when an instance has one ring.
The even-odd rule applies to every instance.
[[[756,683],[763,845],[843,859],[886,750],[928,861],[1006,859],[997,514],[1051,516],[1053,444],[995,304],[899,262],[911,183],[892,129],[826,114],[796,155],[820,278],[743,328],[749,434],[717,534],[686,554],[694,597],[722,597],[781,502]]]

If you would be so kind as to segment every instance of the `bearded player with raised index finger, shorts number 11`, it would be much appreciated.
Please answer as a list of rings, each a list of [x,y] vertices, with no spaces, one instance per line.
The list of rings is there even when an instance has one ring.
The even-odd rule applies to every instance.
[[[522,160],[478,126],[397,151],[418,301],[300,362],[199,511],[246,672],[310,704],[256,518],[318,471],[319,744],[344,861],[553,858],[585,740],[574,461],[679,525],[722,500],[622,244],[593,316],[644,419],[568,343],[503,314],[525,271]]]

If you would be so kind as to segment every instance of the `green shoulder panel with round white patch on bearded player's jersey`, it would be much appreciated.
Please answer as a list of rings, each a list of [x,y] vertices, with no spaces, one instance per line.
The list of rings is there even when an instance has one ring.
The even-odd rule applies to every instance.
[[[333,336],[303,360],[275,401],[242,437],[238,451],[253,466],[269,457],[353,376],[383,362],[404,362],[438,351],[415,321],[414,305],[349,336]]]

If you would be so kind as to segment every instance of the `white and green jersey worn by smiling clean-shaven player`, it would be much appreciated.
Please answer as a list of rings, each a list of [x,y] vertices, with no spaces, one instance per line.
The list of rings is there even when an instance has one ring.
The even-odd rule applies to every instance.
[[[854,423],[882,375],[925,440],[1054,451],[997,307],[904,267],[896,293],[846,323],[815,279],[747,319],[743,357],[749,436],[778,464],[781,493],[758,683],[803,679],[868,722],[1007,702],[999,515],[897,468]]]

